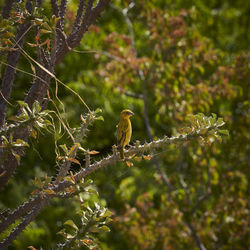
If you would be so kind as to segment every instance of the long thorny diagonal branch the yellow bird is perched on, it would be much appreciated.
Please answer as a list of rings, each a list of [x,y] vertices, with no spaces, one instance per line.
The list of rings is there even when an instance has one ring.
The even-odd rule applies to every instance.
[[[206,137],[209,136],[209,133],[211,130],[216,130],[217,127],[210,126],[207,128],[207,133],[204,134],[200,130],[197,130],[196,132],[193,132],[192,134],[186,134],[186,135],[179,135],[178,137],[163,137],[159,140],[154,140],[149,143],[145,143],[142,145],[136,144],[135,146],[131,146],[131,148],[127,151],[125,151],[125,156],[127,159],[131,156],[135,155],[143,155],[146,152],[154,152],[156,150],[163,150],[167,145],[169,144],[178,144],[183,145],[184,142],[192,141],[194,139],[197,139],[199,137]],[[74,180],[76,183],[82,180],[82,178],[90,175],[94,171],[107,167],[111,164],[115,164],[117,162],[120,162],[120,157],[116,153],[114,153],[111,156],[108,156],[106,158],[103,158],[102,160],[95,162],[91,165],[89,165],[87,168],[82,168],[79,172],[77,172],[74,175]],[[14,223],[18,218],[22,217],[24,214],[28,213],[34,207],[39,206],[42,202],[46,201],[48,202],[50,199],[55,197],[59,194],[59,192],[62,192],[65,190],[65,188],[68,188],[70,186],[74,185],[72,182],[68,180],[63,180],[61,182],[54,182],[51,186],[51,190],[54,191],[52,194],[38,194],[35,197],[30,198],[27,202],[25,202],[23,205],[19,206],[16,210],[14,210],[12,213],[9,213],[8,216],[0,222],[0,232],[3,232],[8,228],[9,225]]]

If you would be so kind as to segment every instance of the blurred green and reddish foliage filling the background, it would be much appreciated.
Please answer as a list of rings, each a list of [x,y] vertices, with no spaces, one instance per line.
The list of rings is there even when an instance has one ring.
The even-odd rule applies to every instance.
[[[1,5],[2,5],[1,1]],[[41,15],[50,15],[44,1]],[[78,1],[70,1],[66,34]],[[130,1],[114,1],[56,70],[56,76],[76,91],[91,110],[102,109],[104,122],[95,122],[84,147],[111,153],[120,111],[133,110],[135,140],[148,140],[138,69],[145,75],[148,113],[154,138],[181,132],[189,114],[216,113],[224,118],[230,136],[221,144],[200,141],[169,146],[155,156],[166,173],[167,187],[153,161],[109,166],[91,175],[103,206],[113,211],[111,232],[101,234],[103,249],[194,249],[190,225],[207,249],[249,247],[249,4],[247,1],[135,1],[128,11],[135,47],[121,10]],[[44,38],[45,39],[45,38]],[[28,42],[34,43],[29,36]],[[35,55],[35,49],[24,49]],[[32,72],[22,58],[19,68]],[[32,78],[17,72],[11,102],[23,99]],[[52,86],[52,92],[55,84]],[[86,112],[62,85],[70,126],[79,126]],[[54,100],[58,102],[56,99]],[[59,106],[60,104],[57,103]],[[62,107],[61,107],[62,108]],[[49,105],[53,109],[53,105]],[[9,115],[13,110],[9,109]],[[59,139],[63,144],[66,136]],[[0,209],[15,208],[33,190],[35,177],[56,173],[54,137],[30,139],[32,147],[0,194]],[[77,158],[83,163],[83,156]],[[78,170],[77,164],[72,171]],[[96,197],[93,199],[95,201]],[[29,245],[55,248],[63,223],[76,220],[76,199],[55,199],[10,249]]]

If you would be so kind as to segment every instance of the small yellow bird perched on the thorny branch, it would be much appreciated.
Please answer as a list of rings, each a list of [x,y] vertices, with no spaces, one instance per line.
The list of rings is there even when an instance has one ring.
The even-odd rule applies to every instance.
[[[124,109],[121,112],[120,122],[117,125],[117,145],[122,160],[124,159],[124,148],[129,144],[132,135],[132,126],[129,120],[132,115],[134,115],[132,111]]]

